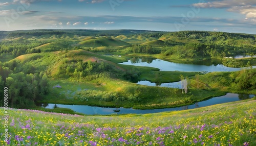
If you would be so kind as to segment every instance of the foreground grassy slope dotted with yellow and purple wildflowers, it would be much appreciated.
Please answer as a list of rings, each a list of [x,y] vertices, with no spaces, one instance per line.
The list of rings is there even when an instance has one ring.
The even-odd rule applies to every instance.
[[[255,100],[246,100],[118,116],[9,109],[7,139],[10,145],[256,145],[255,104]],[[4,109],[0,111],[4,117]],[[5,120],[1,118],[0,123],[4,125]],[[1,145],[6,145],[4,139],[1,136]]]

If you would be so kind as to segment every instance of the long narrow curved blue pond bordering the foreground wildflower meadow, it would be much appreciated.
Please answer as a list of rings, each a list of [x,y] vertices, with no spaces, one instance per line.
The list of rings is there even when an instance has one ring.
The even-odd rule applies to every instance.
[[[57,104],[57,107],[61,108],[69,108],[74,110],[75,112],[88,114],[88,115],[107,115],[107,114],[146,114],[146,113],[157,113],[157,112],[164,112],[164,111],[175,111],[175,110],[186,110],[186,109],[194,109],[199,107],[205,107],[210,105],[234,102],[239,100],[245,100],[252,98],[253,94],[234,94],[234,93],[227,93],[224,96],[219,96],[216,98],[209,99],[207,101],[202,101],[195,103],[189,106],[177,107],[177,108],[165,108],[165,109],[152,109],[152,110],[137,110],[137,109],[126,109],[126,108],[101,108],[101,107],[93,107],[93,106],[84,106],[84,105],[60,105]],[[48,104],[45,108],[53,109],[54,104]]]

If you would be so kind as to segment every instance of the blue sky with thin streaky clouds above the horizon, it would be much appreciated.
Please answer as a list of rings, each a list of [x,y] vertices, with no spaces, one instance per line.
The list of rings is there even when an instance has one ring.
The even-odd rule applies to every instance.
[[[95,29],[256,34],[256,0],[0,0],[0,30]]]

